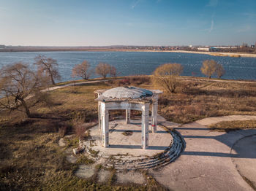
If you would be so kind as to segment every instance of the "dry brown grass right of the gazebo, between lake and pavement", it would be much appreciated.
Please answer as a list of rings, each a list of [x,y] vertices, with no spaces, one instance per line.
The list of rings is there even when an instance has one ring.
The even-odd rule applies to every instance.
[[[187,123],[204,117],[256,114],[256,83],[180,80],[178,93],[159,98],[159,114]]]

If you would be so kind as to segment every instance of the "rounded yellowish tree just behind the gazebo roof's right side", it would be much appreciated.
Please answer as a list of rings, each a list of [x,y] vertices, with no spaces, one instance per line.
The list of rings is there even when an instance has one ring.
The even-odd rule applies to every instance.
[[[162,86],[167,92],[175,93],[178,85],[177,77],[182,71],[183,66],[179,63],[165,63],[154,71],[153,82]]]

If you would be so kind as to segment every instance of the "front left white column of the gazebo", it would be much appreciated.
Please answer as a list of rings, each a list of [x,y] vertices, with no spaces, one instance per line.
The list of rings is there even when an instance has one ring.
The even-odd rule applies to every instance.
[[[109,146],[109,133],[108,133],[108,120],[109,114],[108,109],[105,108],[105,103],[101,103],[100,107],[101,115],[102,115],[102,146]]]

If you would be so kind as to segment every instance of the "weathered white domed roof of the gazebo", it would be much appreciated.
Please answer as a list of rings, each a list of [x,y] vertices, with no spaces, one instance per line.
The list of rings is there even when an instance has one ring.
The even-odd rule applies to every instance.
[[[115,87],[109,90],[98,90],[99,97],[97,101],[124,101],[124,100],[143,100],[158,94],[154,91],[146,90],[140,87]]]

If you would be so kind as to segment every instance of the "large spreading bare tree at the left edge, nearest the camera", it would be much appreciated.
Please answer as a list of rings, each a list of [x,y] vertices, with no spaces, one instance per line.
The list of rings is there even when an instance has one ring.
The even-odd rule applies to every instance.
[[[35,74],[24,63],[5,66],[0,72],[0,106],[2,109],[19,110],[31,117],[29,108],[44,101],[45,95],[39,88],[44,86],[41,75]]]

